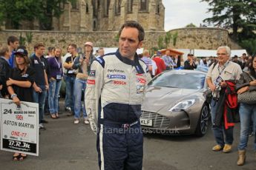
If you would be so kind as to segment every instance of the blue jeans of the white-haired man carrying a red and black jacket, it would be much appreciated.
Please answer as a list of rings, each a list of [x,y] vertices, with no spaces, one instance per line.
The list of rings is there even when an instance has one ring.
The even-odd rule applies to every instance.
[[[217,112],[217,102],[215,103],[214,100],[211,100],[211,123],[212,124],[214,124],[216,112]],[[224,122],[223,122],[223,124],[224,124]],[[222,147],[225,145],[225,143],[232,145],[233,140],[234,140],[234,137],[233,137],[233,129],[234,128],[229,127],[229,129],[225,129],[223,124],[221,126],[212,126],[212,128],[211,128],[214,133],[214,137],[215,137],[217,144],[219,144]],[[224,134],[226,137],[225,142],[224,142]]]

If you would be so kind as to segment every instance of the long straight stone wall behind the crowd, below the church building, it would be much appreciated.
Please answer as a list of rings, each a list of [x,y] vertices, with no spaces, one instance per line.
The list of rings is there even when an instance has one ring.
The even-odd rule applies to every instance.
[[[26,38],[27,34],[32,34],[31,42],[26,41],[26,47],[29,52],[33,52],[33,45],[42,42],[45,47],[61,47],[65,52],[68,44],[77,44],[83,47],[86,41],[92,41],[95,47],[118,47],[116,41],[117,31],[111,32],[60,32],[60,31],[36,31],[36,30],[2,30],[0,31],[0,44],[7,44],[7,37],[15,35],[18,38],[22,35]],[[144,48],[151,49],[157,47],[159,36],[165,35],[165,32],[145,32]]]

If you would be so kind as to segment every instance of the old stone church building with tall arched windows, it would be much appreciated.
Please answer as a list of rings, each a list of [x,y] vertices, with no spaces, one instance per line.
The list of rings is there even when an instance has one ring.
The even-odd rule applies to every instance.
[[[55,31],[117,31],[127,20],[138,21],[146,31],[164,31],[162,0],[76,0],[60,7],[64,13],[53,18]],[[20,24],[20,30],[39,30],[38,21]],[[8,21],[5,29],[12,29]]]

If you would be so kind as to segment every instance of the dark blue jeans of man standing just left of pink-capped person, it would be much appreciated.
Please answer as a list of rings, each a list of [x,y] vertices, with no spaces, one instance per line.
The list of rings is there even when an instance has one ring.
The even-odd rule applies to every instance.
[[[66,77],[66,95],[68,95],[68,103],[70,104],[70,108],[71,111],[74,112],[73,110],[73,102],[74,102],[74,98],[73,98],[73,87],[75,84],[75,77],[70,77],[67,76]]]

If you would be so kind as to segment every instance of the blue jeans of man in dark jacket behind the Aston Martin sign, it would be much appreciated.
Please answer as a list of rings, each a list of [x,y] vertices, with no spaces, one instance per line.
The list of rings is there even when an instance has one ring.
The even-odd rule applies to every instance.
[[[33,90],[33,101],[35,103],[39,103],[39,123],[42,123],[45,114],[45,98],[46,98],[46,90],[45,86],[37,85],[42,89],[42,92],[36,92]]]

